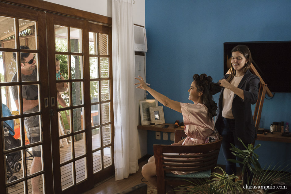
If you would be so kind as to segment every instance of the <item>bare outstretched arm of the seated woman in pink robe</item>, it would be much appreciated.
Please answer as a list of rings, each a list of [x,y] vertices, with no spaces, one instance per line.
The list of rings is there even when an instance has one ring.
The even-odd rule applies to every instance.
[[[138,77],[139,78],[137,78],[137,77],[134,78],[134,79],[139,81],[139,83],[134,84],[134,85],[138,85],[136,88],[141,88],[143,90],[148,91],[155,99],[157,99],[157,101],[162,103],[164,106],[167,106],[173,110],[178,111],[179,113],[182,113],[180,102],[171,100],[167,96],[164,96],[161,93],[153,90],[148,85],[146,85],[146,83],[144,82],[144,80],[141,76],[138,76]]]

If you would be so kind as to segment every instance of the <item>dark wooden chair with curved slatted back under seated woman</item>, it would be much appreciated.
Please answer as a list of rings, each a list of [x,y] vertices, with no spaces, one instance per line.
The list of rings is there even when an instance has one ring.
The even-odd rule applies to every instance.
[[[175,131],[175,143],[180,141],[182,137],[187,137],[183,130]],[[217,163],[217,158],[222,142],[219,140],[207,144],[198,145],[153,145],[153,151],[157,170],[157,192],[158,194],[166,193],[166,185],[173,187],[188,184],[186,180],[195,181],[195,174],[208,174],[204,177],[208,179]],[[181,153],[202,153],[198,155],[180,155]],[[208,170],[208,172],[206,172]],[[197,173],[185,175],[174,175],[169,171],[193,172]],[[203,172],[198,172],[203,171]],[[193,175],[193,176],[192,176]],[[171,177],[170,177],[171,176]],[[174,177],[172,177],[174,176]],[[183,180],[184,179],[184,180]],[[201,180],[201,178],[199,178]]]

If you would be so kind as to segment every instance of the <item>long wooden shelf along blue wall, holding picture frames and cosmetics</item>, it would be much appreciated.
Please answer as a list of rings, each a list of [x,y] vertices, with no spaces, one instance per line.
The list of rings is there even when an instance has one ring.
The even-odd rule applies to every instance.
[[[169,125],[168,128],[163,128],[165,125]],[[176,129],[183,130],[184,128],[178,127],[176,129],[174,129],[174,124],[164,123],[164,124],[155,125],[155,126],[138,125],[138,129],[175,133]],[[257,134],[256,140],[291,143],[291,137],[285,137],[285,136],[281,136],[281,135],[282,135],[281,132],[274,132],[273,134],[268,132],[267,135]]]

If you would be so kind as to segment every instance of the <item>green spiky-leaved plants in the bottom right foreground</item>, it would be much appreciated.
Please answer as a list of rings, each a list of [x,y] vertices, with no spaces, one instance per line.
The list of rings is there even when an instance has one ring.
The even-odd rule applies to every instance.
[[[240,142],[242,140],[238,138]],[[244,143],[242,142],[244,145]],[[287,170],[290,170],[289,165],[275,165],[271,167],[264,167],[263,170],[259,164],[259,156],[255,154],[255,150],[261,145],[258,144],[255,147],[252,144],[248,144],[248,147],[244,145],[245,150],[240,150],[232,145],[232,154],[237,158],[243,159],[242,162],[238,160],[232,160],[231,162],[238,162],[244,164],[241,169],[241,174],[244,174],[246,168],[248,167],[253,173],[251,180],[248,180],[250,185],[243,185],[243,181],[235,175],[228,175],[221,167],[215,167],[221,170],[222,173],[212,173],[210,179],[207,181],[192,182],[188,181],[189,184],[181,185],[174,188],[172,191],[183,191],[183,193],[195,193],[195,194],[232,194],[232,193],[244,193],[244,194],[264,194],[267,193],[269,189],[274,188],[274,184],[279,183],[284,185],[286,182],[290,181],[290,174]],[[236,180],[236,181],[234,181]],[[277,191],[276,191],[277,192]],[[275,193],[275,192],[268,192]]]

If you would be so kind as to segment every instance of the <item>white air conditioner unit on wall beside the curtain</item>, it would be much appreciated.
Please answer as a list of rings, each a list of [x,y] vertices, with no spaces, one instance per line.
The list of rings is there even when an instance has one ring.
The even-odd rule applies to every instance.
[[[134,25],[134,51],[147,52],[146,28]]]

